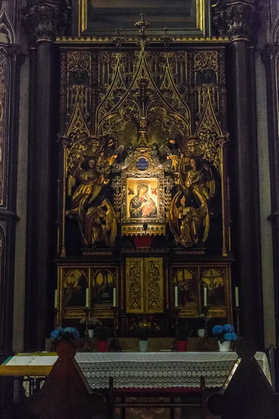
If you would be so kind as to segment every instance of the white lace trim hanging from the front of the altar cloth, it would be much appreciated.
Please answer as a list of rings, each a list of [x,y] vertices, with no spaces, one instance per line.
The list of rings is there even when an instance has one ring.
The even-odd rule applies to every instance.
[[[271,381],[267,360],[257,362]],[[110,376],[116,388],[197,388],[201,376],[205,377],[206,387],[221,387],[234,360],[79,362],[79,365],[91,388],[108,388]]]

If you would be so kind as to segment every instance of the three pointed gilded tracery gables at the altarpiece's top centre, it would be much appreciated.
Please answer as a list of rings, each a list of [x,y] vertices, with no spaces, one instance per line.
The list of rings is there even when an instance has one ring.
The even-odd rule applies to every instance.
[[[132,78],[128,77],[127,79],[125,67],[123,67],[123,59],[127,59],[127,56],[116,54],[116,57],[112,83],[105,95],[101,96],[102,100],[96,112],[97,135],[112,132],[113,119],[119,122],[117,126],[125,125],[127,115],[123,109],[127,109],[127,101],[131,110],[133,109],[133,117],[138,124],[140,124],[140,119],[148,119],[149,110],[153,110],[155,102],[160,101],[167,113],[179,113],[181,120],[186,125],[185,134],[187,135],[190,131],[190,110],[174,82],[169,57],[165,55],[164,63],[160,63],[160,66],[163,65],[163,73],[158,85],[156,84],[158,73],[156,72],[154,77],[144,49],[141,50],[140,56],[136,57],[138,64]],[[117,126],[114,126],[114,129],[117,129]]]

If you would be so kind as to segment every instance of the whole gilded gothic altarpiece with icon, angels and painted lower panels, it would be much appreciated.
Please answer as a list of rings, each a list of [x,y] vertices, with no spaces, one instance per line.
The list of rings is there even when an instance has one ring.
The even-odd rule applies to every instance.
[[[68,43],[67,43],[68,42]],[[232,321],[225,47],[59,42],[59,324]],[[120,42],[119,40],[116,42]],[[118,45],[119,46],[119,45]],[[181,320],[182,321],[182,320]]]

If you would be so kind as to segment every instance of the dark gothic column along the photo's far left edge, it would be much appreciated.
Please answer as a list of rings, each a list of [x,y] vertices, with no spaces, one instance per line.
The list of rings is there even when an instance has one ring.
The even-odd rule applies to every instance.
[[[11,19],[13,17],[13,19]],[[13,349],[13,285],[20,68],[24,61],[8,4],[0,15],[0,362]]]

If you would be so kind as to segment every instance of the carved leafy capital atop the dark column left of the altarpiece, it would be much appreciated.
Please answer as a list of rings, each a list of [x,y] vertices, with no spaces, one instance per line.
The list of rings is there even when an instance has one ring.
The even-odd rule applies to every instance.
[[[31,6],[23,17],[30,42],[55,41],[56,36],[64,35],[70,24],[69,10],[48,3]]]

